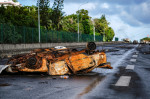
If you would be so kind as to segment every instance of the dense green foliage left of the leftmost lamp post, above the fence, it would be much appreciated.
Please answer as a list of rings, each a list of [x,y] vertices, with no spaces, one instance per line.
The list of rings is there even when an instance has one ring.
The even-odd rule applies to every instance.
[[[0,7],[1,20],[0,23],[13,24],[17,26],[37,26],[37,13],[35,6],[8,6],[7,8]]]

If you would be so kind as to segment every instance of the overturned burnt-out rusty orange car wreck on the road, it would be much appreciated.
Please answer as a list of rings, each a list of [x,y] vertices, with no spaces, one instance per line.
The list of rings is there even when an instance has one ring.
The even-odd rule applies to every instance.
[[[94,68],[112,69],[104,51],[95,51],[89,42],[86,49],[77,51],[66,47],[35,49],[28,54],[16,55],[4,65],[7,72],[47,72],[49,75],[87,73]]]

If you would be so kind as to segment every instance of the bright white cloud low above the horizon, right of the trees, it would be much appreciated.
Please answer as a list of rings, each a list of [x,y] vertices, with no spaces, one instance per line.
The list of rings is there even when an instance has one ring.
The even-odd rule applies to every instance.
[[[115,37],[119,37],[120,40],[123,38],[129,38],[132,41],[140,40],[141,38],[146,37],[148,34],[150,35],[150,29],[148,26],[131,27],[122,21],[117,15],[113,15],[109,18],[109,22],[111,23],[110,26],[115,32]]]

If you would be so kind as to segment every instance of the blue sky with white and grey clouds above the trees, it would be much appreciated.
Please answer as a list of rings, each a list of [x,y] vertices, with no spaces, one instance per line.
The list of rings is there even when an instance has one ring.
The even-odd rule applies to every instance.
[[[36,5],[37,0],[18,0],[22,5]],[[51,0],[51,5],[53,0]],[[86,9],[92,18],[105,14],[115,36],[141,39],[150,36],[150,0],[64,0],[66,15]]]

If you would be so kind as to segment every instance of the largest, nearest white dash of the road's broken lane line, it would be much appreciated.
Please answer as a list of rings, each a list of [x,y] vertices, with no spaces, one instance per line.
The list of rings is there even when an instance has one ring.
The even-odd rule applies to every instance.
[[[129,86],[131,76],[121,76],[115,86]]]

